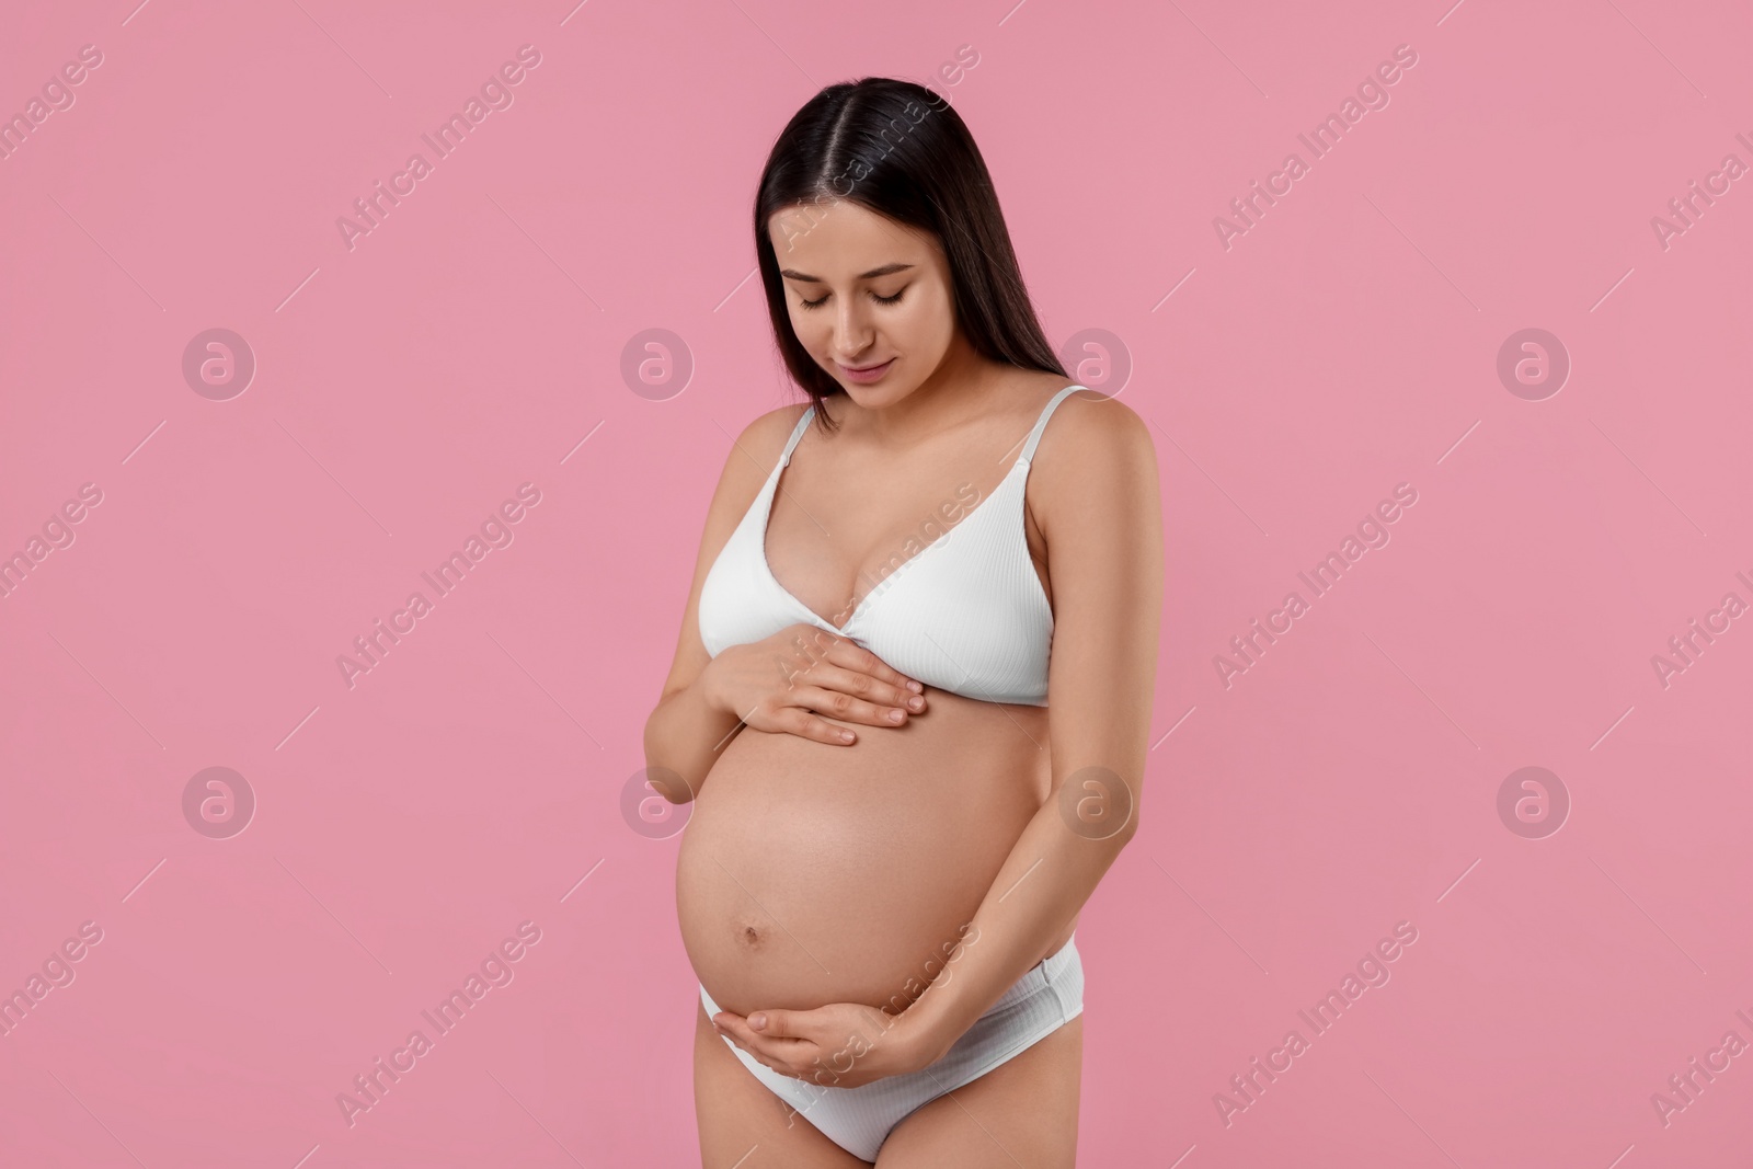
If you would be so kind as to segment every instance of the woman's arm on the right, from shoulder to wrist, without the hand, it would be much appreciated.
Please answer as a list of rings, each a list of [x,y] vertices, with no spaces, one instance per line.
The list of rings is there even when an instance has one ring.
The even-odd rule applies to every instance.
[[[1061,410],[1073,401],[1050,461],[1029,471],[1045,478],[1036,522],[1054,589],[1052,792],[975,913],[978,943],[896,1020],[922,1067],[1040,960],[1138,831],[1162,624],[1157,456],[1127,407],[1076,393]]]

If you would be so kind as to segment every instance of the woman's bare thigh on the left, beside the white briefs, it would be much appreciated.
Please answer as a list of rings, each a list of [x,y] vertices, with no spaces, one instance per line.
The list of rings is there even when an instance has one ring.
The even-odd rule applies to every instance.
[[[701,1169],[869,1169],[754,1078],[694,999],[694,1116]]]

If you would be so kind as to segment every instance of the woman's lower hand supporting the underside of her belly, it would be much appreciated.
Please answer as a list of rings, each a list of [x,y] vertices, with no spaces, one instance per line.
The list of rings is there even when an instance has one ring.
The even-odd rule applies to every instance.
[[[919,1071],[940,1055],[906,1011],[889,1015],[861,1003],[754,1011],[747,1018],[719,1011],[712,1025],[782,1076],[829,1088]]]

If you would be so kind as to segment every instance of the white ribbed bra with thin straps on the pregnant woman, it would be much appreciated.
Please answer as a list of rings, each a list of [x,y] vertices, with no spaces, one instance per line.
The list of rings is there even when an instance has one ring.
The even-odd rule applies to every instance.
[[[1041,410],[1022,456],[954,528],[884,577],[836,629],[773,577],[768,517],[780,473],[815,415],[798,419],[778,466],[749,505],[699,591],[699,640],[726,647],[806,622],[848,638],[903,675],[987,703],[1047,705],[1054,610],[1029,559],[1022,499],[1047,419],[1083,386],[1066,386]]]

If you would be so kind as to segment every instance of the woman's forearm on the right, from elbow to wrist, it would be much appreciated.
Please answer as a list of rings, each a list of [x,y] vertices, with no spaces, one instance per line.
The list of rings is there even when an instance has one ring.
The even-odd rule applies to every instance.
[[[1138,783],[1131,789],[1136,801]],[[968,931],[975,941],[962,945],[954,966],[947,964],[903,1013],[933,1059],[1041,960],[1136,831],[1134,803],[1120,831],[1092,840],[1066,824],[1059,796],[1055,790],[1029,820],[975,911]]]

